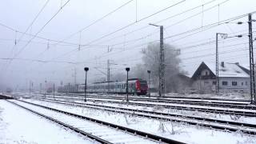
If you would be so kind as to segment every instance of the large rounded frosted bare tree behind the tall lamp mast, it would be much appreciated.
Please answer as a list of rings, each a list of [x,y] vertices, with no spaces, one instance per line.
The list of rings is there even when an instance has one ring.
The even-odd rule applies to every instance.
[[[179,74],[183,74],[179,67],[180,59],[178,58],[179,50],[169,44],[164,45],[165,50],[165,79],[166,79],[166,92],[178,92],[182,87],[182,79],[178,77]],[[142,50],[142,65],[143,76],[146,78],[146,70],[151,70],[151,78],[158,87],[159,82],[159,43],[153,43],[147,46],[146,50]],[[140,68],[142,69],[142,68]],[[141,75],[141,74],[139,74]]]

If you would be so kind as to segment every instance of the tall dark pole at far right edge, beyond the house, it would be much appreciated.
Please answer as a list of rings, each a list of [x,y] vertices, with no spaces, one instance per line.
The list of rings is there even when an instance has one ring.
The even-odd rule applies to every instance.
[[[250,53],[250,103],[255,103],[255,73],[254,73],[254,43],[252,33],[251,14],[248,15],[249,24],[249,53]]]

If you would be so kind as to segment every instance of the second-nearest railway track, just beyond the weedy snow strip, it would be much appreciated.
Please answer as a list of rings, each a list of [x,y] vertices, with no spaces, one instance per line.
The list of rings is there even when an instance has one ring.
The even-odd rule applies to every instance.
[[[149,110],[135,110],[117,106],[102,106],[96,104],[66,102],[50,99],[39,99],[46,102],[54,102],[62,105],[79,106],[97,110],[107,110],[114,113],[133,114],[143,118],[161,119],[163,121],[186,122],[190,125],[210,127],[216,130],[242,131],[244,134],[256,134],[256,125],[243,122],[230,122],[213,118],[200,118],[195,116],[186,116],[183,114],[166,114]]]

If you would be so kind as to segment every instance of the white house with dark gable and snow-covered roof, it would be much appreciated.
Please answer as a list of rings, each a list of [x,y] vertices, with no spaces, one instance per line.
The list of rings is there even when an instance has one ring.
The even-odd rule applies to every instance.
[[[191,79],[192,87],[202,92],[216,90],[215,63],[202,62]],[[249,91],[250,74],[237,63],[221,62],[218,66],[220,91]]]

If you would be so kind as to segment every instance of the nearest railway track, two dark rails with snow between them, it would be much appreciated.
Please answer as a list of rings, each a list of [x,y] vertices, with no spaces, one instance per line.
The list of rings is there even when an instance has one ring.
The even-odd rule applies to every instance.
[[[10,102],[10,101],[8,101]],[[50,121],[68,127],[79,134],[86,135],[101,143],[182,143],[158,135],[149,134],[139,130],[118,126],[113,123],[103,122],[94,118],[73,114],[63,110],[57,110],[48,106],[42,106],[31,102],[13,101],[34,114],[38,114]]]

